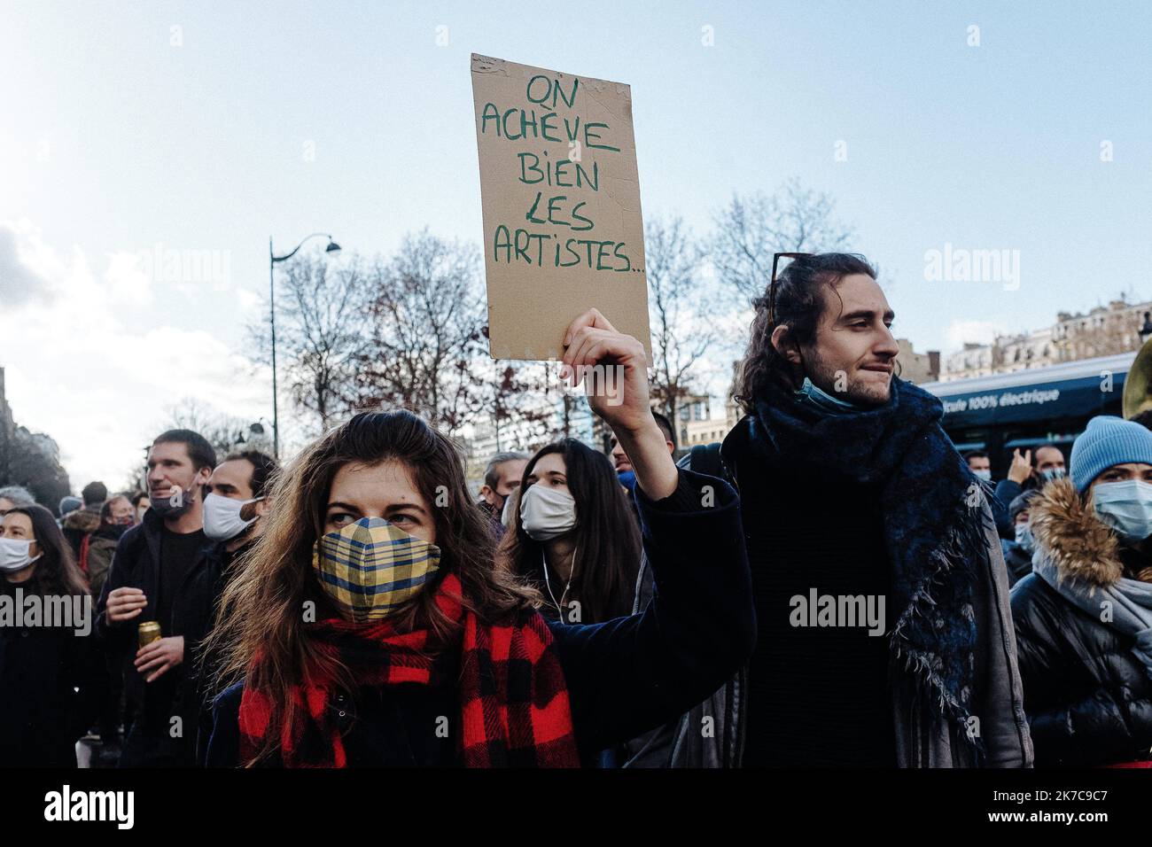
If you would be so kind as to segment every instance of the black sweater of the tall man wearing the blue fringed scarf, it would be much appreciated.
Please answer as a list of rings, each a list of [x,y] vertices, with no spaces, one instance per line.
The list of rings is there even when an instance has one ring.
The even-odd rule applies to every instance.
[[[723,445],[740,486],[759,625],[743,765],[895,767],[888,638],[867,626],[794,626],[811,620],[793,598],[810,606],[814,590],[885,597],[882,626],[892,627],[899,610],[888,597],[880,492],[753,451],[746,424]]]

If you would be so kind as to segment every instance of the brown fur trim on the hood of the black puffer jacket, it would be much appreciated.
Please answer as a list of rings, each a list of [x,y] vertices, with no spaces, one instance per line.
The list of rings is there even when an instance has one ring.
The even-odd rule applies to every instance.
[[[1107,588],[1124,575],[1120,539],[1096,515],[1090,498],[1082,497],[1068,477],[1053,479],[1028,506],[1037,554],[1056,566],[1061,580],[1083,580]]]

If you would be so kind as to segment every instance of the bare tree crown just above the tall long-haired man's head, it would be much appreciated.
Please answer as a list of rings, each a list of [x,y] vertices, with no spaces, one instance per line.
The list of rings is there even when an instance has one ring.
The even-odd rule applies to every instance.
[[[717,217],[712,265],[721,285],[746,303],[772,280],[775,252],[826,252],[848,248],[854,237],[834,217],[835,202],[805,189],[795,177],[771,195],[734,195]]]

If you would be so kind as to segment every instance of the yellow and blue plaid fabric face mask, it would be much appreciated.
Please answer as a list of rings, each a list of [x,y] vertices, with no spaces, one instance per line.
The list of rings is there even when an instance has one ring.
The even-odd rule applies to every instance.
[[[440,547],[382,517],[362,517],[320,538],[312,567],[343,615],[363,623],[422,591],[440,568]]]

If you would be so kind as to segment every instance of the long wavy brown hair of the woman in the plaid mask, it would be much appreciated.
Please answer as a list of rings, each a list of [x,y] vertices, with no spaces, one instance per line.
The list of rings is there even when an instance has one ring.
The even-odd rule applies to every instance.
[[[300,719],[293,690],[313,674],[333,679],[354,694],[350,671],[318,649],[304,623],[305,603],[317,618],[335,617],[312,568],[312,551],[324,534],[332,481],[343,466],[399,461],[432,508],[440,570],[427,588],[393,613],[399,632],[426,628],[430,652],[453,649],[458,626],[437,606],[435,588],[447,573],[463,585],[464,607],[492,622],[538,602],[509,574],[493,568],[494,542],[488,522],[471,501],[460,453],[447,436],[410,411],[361,413],[308,447],[275,478],[267,527],[244,558],[220,598],[218,622],[203,648],[219,656],[213,688],[244,679],[272,703],[273,727]],[[271,754],[280,732],[265,734]]]

